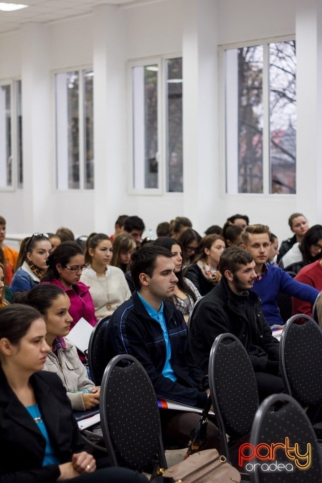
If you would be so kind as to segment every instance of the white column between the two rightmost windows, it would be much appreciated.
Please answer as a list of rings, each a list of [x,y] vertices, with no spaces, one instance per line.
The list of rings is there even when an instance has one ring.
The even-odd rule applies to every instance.
[[[184,7],[184,203],[201,230],[218,213],[217,2],[185,0]]]

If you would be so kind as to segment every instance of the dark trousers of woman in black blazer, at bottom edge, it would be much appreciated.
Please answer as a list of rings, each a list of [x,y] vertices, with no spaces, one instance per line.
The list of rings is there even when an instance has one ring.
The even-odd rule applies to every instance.
[[[65,483],[147,483],[148,479],[138,471],[113,467],[98,469],[93,473],[84,473],[76,478],[66,479]]]

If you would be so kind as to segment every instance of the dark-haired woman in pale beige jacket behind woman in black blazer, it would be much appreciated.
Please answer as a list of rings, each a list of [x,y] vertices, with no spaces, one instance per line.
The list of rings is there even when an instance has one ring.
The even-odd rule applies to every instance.
[[[69,334],[72,318],[70,300],[56,285],[40,284],[29,292],[14,295],[15,303],[24,303],[37,309],[46,323],[46,342],[50,347],[44,370],[57,374],[66,388],[74,411],[85,411],[100,403],[100,388],[88,378],[84,364],[79,360],[75,346],[64,339]]]

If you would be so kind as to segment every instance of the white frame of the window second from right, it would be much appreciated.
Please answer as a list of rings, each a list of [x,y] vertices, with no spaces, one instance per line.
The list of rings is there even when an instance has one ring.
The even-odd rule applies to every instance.
[[[160,196],[183,195],[183,192],[169,192],[167,191],[167,97],[166,97],[166,61],[182,57],[182,53],[174,53],[167,55],[159,55],[153,57],[144,57],[140,59],[130,60],[127,63],[127,92],[128,92],[128,163],[129,163],[129,177],[128,177],[128,192],[131,195],[144,196]],[[145,65],[156,64],[158,67],[157,75],[157,162],[158,162],[158,188],[135,188],[134,187],[134,145],[133,145],[133,86],[132,86],[132,68],[144,67]],[[184,161],[183,161],[184,170]]]

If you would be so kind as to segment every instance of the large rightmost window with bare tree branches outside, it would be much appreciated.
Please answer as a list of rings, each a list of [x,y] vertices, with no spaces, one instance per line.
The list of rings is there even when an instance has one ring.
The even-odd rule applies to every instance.
[[[227,193],[295,193],[295,41],[226,49],[224,64]]]

